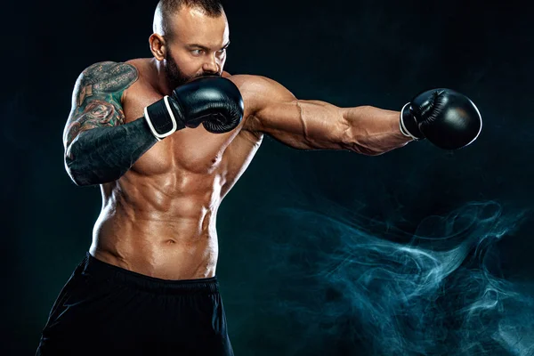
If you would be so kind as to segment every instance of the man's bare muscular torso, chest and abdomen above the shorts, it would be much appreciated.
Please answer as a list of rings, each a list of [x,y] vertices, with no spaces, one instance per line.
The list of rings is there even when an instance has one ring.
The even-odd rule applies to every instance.
[[[139,78],[123,95],[125,122],[163,96],[150,85],[149,60],[130,61]],[[239,89],[238,80],[233,80]],[[160,279],[213,277],[218,242],[216,214],[245,171],[261,135],[241,124],[227,134],[202,125],[156,143],[117,182],[101,185],[101,214],[90,252],[101,261]]]

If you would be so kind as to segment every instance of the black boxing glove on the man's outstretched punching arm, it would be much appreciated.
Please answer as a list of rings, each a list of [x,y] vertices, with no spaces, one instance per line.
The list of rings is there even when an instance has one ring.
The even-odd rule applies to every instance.
[[[450,89],[418,94],[401,109],[401,132],[428,139],[444,150],[467,146],[481,133],[482,118],[473,101]]]

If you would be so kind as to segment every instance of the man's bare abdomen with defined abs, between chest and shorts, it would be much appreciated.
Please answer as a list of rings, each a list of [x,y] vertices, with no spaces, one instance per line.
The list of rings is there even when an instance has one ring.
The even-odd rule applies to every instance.
[[[102,185],[104,203],[90,254],[158,279],[214,277],[221,184],[216,176],[197,177],[193,185],[199,194],[180,192],[175,179],[169,183],[165,175],[140,177],[129,172]]]

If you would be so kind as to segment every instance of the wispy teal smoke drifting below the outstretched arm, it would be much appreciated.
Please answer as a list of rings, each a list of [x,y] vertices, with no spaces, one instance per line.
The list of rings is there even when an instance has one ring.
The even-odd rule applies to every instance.
[[[533,288],[499,276],[495,248],[526,212],[473,202],[427,217],[410,239],[338,213],[286,208],[274,218],[296,228],[271,245],[271,271],[295,283],[272,312],[295,320],[303,339],[323,347],[325,335],[349,335],[372,355],[534,354]]]

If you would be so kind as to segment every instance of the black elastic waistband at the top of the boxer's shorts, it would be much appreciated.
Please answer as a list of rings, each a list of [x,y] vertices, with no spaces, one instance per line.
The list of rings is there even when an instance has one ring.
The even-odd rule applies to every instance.
[[[206,279],[158,279],[94,258],[89,252],[79,264],[81,274],[93,279],[107,280],[158,294],[214,294],[219,293],[217,277]]]

